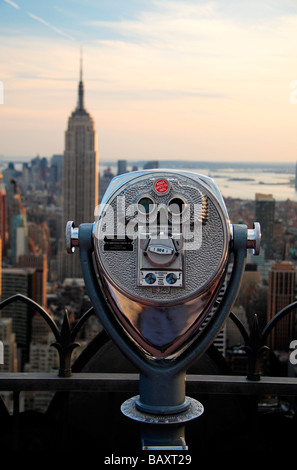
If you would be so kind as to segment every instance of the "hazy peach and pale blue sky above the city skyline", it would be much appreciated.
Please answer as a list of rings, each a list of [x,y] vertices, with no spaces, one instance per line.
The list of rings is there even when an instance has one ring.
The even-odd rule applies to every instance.
[[[82,46],[102,160],[295,162],[296,45],[296,0],[0,0],[0,155],[63,153]]]

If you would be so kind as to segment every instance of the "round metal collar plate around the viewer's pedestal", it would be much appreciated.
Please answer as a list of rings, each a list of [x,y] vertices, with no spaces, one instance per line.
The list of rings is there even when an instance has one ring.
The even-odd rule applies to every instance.
[[[151,413],[143,413],[139,411],[136,407],[136,401],[139,399],[139,395],[136,397],[129,398],[126,400],[122,406],[122,413],[128,418],[134,419],[135,421],[140,421],[142,423],[152,423],[152,424],[175,424],[175,423],[186,423],[192,419],[198,418],[202,415],[204,411],[203,405],[194,400],[194,398],[187,397],[190,402],[190,405],[186,411],[181,413],[171,414],[171,415],[158,415]]]

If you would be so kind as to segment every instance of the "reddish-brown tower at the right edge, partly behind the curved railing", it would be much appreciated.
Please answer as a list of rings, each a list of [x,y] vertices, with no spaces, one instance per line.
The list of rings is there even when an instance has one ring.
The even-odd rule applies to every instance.
[[[296,271],[292,263],[282,261],[274,263],[269,271],[268,278],[268,309],[269,322],[280,310],[294,301],[296,286]],[[272,330],[268,337],[271,349],[289,349],[293,338],[294,316],[293,312],[286,315]]]

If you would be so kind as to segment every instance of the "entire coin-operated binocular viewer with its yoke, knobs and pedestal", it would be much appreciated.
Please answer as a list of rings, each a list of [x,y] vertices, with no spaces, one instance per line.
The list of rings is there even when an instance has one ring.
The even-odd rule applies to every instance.
[[[258,254],[260,239],[258,223],[253,229],[230,223],[211,178],[175,170],[115,177],[95,223],[67,223],[67,251],[79,247],[98,318],[140,371],[140,395],[121,409],[157,424],[153,434],[145,427],[143,448],[156,442],[158,448],[185,448],[185,422],[203,413],[199,402],[185,396],[186,371],[222,329],[247,249]],[[214,305],[229,264],[230,279]],[[160,423],[172,426],[165,431]]]

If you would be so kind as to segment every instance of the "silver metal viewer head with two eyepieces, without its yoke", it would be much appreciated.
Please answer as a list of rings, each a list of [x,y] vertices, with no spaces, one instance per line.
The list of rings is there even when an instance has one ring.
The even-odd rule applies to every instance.
[[[214,182],[150,170],[114,178],[99,206],[94,253],[103,290],[151,358],[178,355],[212,307],[232,227]]]

